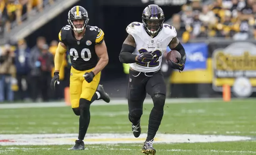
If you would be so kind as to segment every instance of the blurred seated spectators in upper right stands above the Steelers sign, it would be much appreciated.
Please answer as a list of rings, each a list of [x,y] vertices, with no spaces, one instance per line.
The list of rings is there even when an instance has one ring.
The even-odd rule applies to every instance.
[[[256,0],[191,0],[173,15],[173,25],[183,42],[194,38],[256,38]]]

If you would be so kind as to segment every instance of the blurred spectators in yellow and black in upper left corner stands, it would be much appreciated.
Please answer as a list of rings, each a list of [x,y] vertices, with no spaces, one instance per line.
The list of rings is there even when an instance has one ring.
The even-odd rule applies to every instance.
[[[10,32],[13,26],[20,25],[30,15],[43,11],[46,4],[54,0],[0,0],[0,36]]]

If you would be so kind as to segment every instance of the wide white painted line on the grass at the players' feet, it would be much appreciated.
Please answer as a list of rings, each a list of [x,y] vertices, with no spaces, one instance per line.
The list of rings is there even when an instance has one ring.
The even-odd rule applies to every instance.
[[[11,145],[72,145],[77,134],[0,134],[0,146]],[[86,134],[85,144],[136,144],[142,143],[147,134],[140,138],[132,134]],[[161,134],[157,133],[154,142],[157,143],[196,143],[196,142],[233,142],[252,140],[246,136],[199,135],[199,134]]]

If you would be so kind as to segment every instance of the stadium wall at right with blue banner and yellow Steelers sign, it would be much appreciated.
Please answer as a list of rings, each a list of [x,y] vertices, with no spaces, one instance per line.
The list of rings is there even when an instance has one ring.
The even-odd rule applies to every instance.
[[[184,48],[185,69],[170,77],[172,97],[220,97],[225,84],[233,96],[256,96],[255,40],[198,40]]]

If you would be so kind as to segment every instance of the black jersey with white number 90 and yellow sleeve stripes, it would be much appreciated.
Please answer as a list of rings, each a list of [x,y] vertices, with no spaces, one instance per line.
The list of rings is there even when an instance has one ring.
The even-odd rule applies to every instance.
[[[75,38],[70,25],[64,26],[59,33],[59,41],[66,45],[73,68],[80,71],[96,66],[99,59],[95,53],[95,45],[103,40],[104,32],[97,26],[87,25],[81,40]]]

